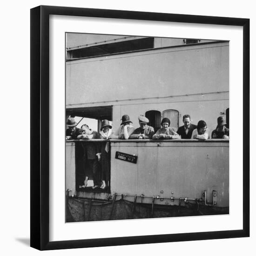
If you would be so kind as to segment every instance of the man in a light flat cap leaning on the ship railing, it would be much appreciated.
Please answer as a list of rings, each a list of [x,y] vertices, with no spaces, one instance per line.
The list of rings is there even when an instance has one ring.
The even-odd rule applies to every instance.
[[[144,115],[139,115],[138,119],[140,127],[135,129],[129,139],[152,139],[155,130],[153,127],[147,125],[149,122],[148,118]]]

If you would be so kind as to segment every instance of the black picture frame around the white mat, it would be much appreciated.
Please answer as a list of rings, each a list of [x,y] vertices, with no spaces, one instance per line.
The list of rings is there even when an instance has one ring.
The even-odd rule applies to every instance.
[[[243,27],[243,229],[49,242],[49,15]],[[249,19],[39,6],[31,9],[31,247],[40,250],[249,236]]]

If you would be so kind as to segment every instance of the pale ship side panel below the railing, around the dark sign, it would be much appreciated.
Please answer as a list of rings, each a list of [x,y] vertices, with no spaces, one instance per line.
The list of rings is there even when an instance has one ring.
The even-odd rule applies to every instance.
[[[201,198],[207,190],[211,201],[216,190],[217,206],[229,206],[227,141],[112,142],[111,150],[112,193]],[[137,163],[115,159],[116,151],[137,155]]]

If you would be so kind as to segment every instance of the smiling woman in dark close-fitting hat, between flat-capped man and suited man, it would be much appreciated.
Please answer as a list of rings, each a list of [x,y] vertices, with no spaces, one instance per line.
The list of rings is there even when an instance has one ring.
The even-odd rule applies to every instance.
[[[153,135],[153,140],[174,140],[180,139],[180,135],[178,135],[174,128],[169,127],[171,121],[165,117],[161,121],[162,128],[158,129],[158,131]]]

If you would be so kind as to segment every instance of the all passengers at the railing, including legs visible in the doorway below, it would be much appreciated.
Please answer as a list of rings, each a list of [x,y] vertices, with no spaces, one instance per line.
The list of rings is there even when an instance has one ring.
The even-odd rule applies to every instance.
[[[184,125],[179,127],[177,132],[170,127],[170,120],[163,118],[161,121],[162,128],[158,129],[155,133],[153,127],[148,126],[148,118],[143,115],[139,116],[139,128],[134,128],[132,121],[128,115],[123,115],[120,127],[113,132],[112,126],[108,120],[101,122],[101,131],[98,135],[96,131],[92,131],[87,124],[83,124],[77,128],[77,123],[74,118],[67,119],[66,139],[153,139],[153,140],[172,140],[172,139],[209,139],[209,129],[206,122],[200,120],[197,126],[190,123],[190,116],[183,116]],[[226,123],[222,116],[217,119],[217,127],[212,132],[212,138],[229,139],[229,129],[226,128]],[[106,182],[109,181],[110,173],[110,152],[109,143],[87,143],[81,144],[83,147],[83,164],[92,169],[93,181],[95,188],[105,189]],[[82,170],[77,172],[77,181],[79,188],[87,187],[88,175]]]

